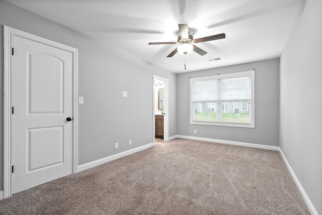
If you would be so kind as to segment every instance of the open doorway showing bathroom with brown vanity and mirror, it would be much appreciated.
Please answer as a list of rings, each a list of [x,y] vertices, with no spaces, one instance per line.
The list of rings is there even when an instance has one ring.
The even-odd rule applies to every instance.
[[[169,80],[153,75],[153,143],[169,138]]]

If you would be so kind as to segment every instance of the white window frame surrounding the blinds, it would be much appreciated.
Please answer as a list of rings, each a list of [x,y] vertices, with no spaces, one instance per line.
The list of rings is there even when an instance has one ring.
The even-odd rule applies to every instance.
[[[217,79],[227,79],[233,77],[246,77],[251,76],[252,83],[252,98],[251,98],[251,123],[231,123],[231,122],[209,122],[209,121],[193,121],[193,89],[192,83],[196,81],[209,81]],[[255,128],[255,70],[245,72],[235,72],[222,75],[212,75],[197,78],[190,78],[190,124],[192,125],[210,125],[210,126],[228,126],[228,127],[241,127],[241,128]]]

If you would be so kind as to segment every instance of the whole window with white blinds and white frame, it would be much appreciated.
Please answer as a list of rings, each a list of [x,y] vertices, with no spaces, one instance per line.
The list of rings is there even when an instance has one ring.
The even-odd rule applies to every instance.
[[[255,128],[254,71],[190,79],[191,124]]]

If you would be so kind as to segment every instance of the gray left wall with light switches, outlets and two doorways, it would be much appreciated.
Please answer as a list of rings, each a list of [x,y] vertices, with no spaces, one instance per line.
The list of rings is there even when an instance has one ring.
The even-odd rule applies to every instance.
[[[0,0],[0,190],[3,190],[3,25],[78,49],[78,165],[153,142],[153,74],[169,79],[169,136],[177,134],[176,74]],[[122,91],[128,97],[122,97]],[[128,145],[128,140],[132,145]],[[114,143],[119,149],[114,149]]]

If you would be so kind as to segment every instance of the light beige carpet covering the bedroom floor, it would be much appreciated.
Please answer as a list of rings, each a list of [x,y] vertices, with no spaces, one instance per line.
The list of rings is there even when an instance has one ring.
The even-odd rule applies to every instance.
[[[0,201],[1,214],[309,214],[279,152],[175,139]]]

